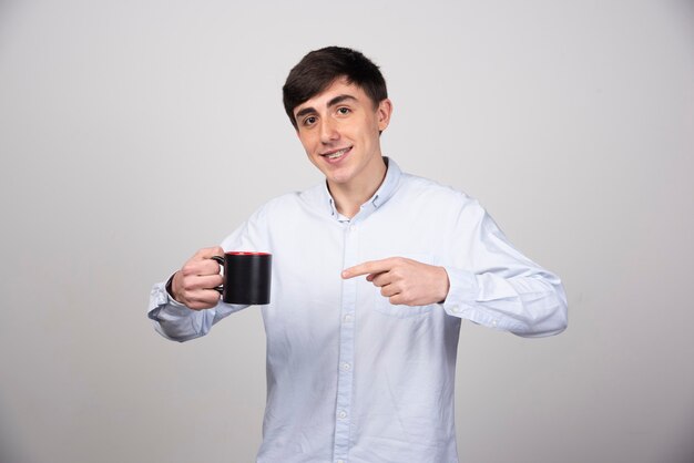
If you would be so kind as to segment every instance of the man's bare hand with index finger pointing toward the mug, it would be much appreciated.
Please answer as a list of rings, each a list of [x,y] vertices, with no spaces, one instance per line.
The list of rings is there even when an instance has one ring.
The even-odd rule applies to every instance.
[[[367,275],[392,305],[428,306],[442,302],[450,282],[443,267],[422,264],[405,257],[371,260],[347,268],[343,278]]]

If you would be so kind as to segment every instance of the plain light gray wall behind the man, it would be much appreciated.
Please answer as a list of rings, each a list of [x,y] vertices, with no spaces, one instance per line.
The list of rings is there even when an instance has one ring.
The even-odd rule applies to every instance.
[[[363,50],[387,155],[478,197],[564,280],[570,327],[465,323],[461,460],[694,461],[694,8],[684,0],[0,0],[0,462],[249,462],[249,309],[177,344],[154,281],[320,179],[280,106]]]

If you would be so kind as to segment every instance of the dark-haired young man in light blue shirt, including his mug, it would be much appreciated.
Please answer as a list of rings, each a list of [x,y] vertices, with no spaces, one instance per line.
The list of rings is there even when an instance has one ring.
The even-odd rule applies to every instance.
[[[150,318],[169,339],[206,335],[245,308],[220,302],[211,257],[272,253],[257,461],[457,462],[461,320],[557,335],[567,326],[561,282],[516,250],[474,199],[382,156],[392,105],[361,53],[310,52],[283,91],[325,184],[271,200],[221,247],[201,249],[154,287]]]

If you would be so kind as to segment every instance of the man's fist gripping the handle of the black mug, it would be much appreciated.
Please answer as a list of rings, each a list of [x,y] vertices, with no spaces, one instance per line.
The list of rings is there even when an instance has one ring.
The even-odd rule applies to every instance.
[[[220,264],[212,256],[224,256],[220,246],[203,248],[195,253],[171,281],[173,298],[193,310],[210,309],[220,301],[215,289],[223,282]]]

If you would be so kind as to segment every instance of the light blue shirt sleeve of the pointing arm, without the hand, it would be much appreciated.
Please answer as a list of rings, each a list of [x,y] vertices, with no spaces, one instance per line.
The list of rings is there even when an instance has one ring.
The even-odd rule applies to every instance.
[[[561,280],[516,249],[484,209],[474,204],[458,219],[453,265],[443,266],[450,289],[443,309],[453,317],[543,337],[567,328]]]

